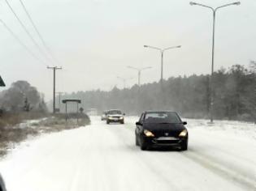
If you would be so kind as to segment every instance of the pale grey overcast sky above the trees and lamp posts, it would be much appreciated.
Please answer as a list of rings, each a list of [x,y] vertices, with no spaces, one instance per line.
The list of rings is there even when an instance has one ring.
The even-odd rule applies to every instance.
[[[19,0],[9,0],[29,32],[40,43]],[[123,87],[117,76],[133,78],[127,66],[145,67],[141,83],[160,78],[160,53],[143,45],[160,48],[182,45],[164,54],[165,79],[171,76],[210,73],[212,14],[187,0],[23,0],[63,70],[56,75],[57,91],[111,90]],[[201,0],[220,6],[228,0]],[[233,64],[247,66],[256,60],[256,1],[242,0],[241,6],[219,10],[216,19],[215,69]],[[4,0],[0,19],[32,49],[37,51]],[[27,80],[50,100],[53,72],[37,62],[0,23],[0,75],[7,87]],[[43,57],[41,57],[44,59]],[[7,88],[6,87],[6,88]],[[2,88],[3,89],[3,88]]]

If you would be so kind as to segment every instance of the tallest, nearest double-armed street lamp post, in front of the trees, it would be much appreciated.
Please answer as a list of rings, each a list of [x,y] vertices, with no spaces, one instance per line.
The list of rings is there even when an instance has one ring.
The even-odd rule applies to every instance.
[[[213,105],[214,105],[214,98],[213,98],[213,74],[214,74],[214,66],[215,66],[215,17],[216,17],[216,12],[223,7],[226,6],[239,6],[241,2],[232,2],[225,4],[223,6],[218,6],[216,8],[211,7],[211,6],[206,6],[201,3],[197,2],[190,2],[189,3],[191,6],[203,6],[208,9],[210,9],[213,12],[213,32],[212,32],[212,49],[211,49],[211,77],[210,77],[210,122],[213,123]]]

